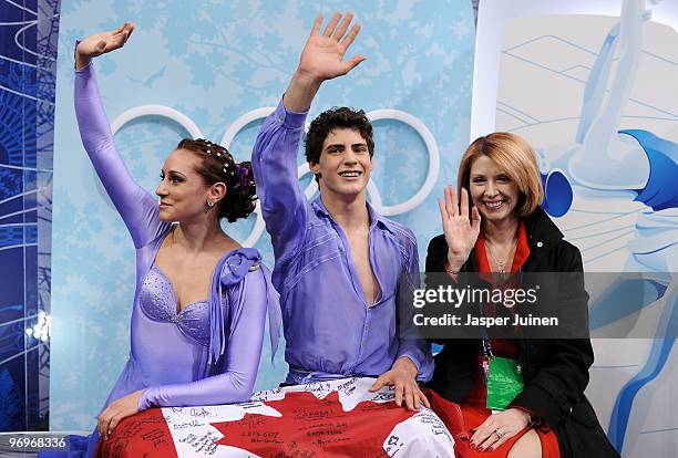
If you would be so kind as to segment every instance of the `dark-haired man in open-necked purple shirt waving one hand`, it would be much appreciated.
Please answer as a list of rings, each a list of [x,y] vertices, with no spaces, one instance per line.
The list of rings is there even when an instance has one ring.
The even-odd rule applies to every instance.
[[[273,281],[281,296],[286,383],[379,376],[372,389],[394,385],[398,405],[404,399],[413,409],[428,406],[417,381],[430,379],[433,372],[430,347],[397,313],[399,296],[419,284],[417,240],[367,202],[374,144],[364,112],[335,108],[311,124],[306,157],[319,198],[309,204],[297,176],[299,140],[320,84],[366,59],[343,61],[360,30],[359,24],[349,30],[351,20],[350,12],[343,19],[337,13],[320,33],[322,17],[316,19],[253,154],[276,257]]]

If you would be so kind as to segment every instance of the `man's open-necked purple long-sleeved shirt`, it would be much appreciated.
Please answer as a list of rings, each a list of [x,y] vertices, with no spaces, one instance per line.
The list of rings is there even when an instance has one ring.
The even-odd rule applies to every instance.
[[[425,341],[402,332],[397,312],[401,294],[419,282],[417,239],[368,204],[369,252],[380,293],[366,301],[341,227],[317,198],[308,202],[297,176],[297,149],[307,113],[282,102],[257,137],[253,168],[276,264],[290,366],[286,383],[341,376],[377,376],[399,357],[409,357],[428,381],[433,358]],[[415,279],[402,284],[404,279]],[[411,330],[410,330],[411,331]]]

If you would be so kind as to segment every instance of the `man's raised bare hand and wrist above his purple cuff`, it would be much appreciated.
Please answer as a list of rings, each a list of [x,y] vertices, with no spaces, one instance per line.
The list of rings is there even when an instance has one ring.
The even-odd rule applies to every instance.
[[[285,93],[285,108],[299,113],[307,111],[323,81],[347,74],[367,59],[359,55],[348,61],[343,60],[346,51],[360,31],[358,23],[349,30],[352,20],[351,12],[347,12],[343,19],[341,13],[337,12],[330,19],[325,32],[320,33],[322,14],[316,18],[310,37],[301,52],[299,66]]]

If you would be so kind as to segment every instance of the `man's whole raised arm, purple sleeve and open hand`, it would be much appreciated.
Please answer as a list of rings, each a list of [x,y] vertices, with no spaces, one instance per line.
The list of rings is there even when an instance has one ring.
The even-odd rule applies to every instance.
[[[350,27],[352,19],[350,12],[343,19],[336,13],[321,34],[322,15],[316,18],[287,92],[257,136],[251,164],[276,259],[301,240],[308,218],[297,176],[297,152],[308,108],[322,82],[347,74],[366,60],[355,56],[343,61],[360,31],[359,24]]]

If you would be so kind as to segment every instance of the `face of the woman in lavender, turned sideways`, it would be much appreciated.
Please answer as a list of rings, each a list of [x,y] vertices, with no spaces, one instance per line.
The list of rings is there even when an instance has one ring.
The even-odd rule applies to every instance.
[[[193,219],[205,212],[208,199],[214,199],[212,187],[196,171],[202,160],[186,149],[176,149],[165,159],[155,189],[162,221]]]

